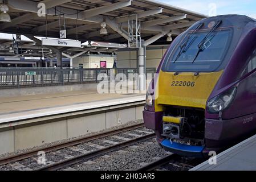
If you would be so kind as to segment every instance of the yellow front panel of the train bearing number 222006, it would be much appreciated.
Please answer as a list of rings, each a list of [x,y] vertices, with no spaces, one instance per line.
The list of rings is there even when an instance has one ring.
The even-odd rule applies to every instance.
[[[155,110],[162,105],[197,107],[205,109],[206,102],[223,71],[212,73],[179,73],[160,71],[156,89]]]

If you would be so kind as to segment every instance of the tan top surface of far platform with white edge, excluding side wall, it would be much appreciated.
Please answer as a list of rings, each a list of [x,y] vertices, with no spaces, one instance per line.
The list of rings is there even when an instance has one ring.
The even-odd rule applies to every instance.
[[[145,94],[99,94],[84,90],[0,98],[0,123],[145,100]]]

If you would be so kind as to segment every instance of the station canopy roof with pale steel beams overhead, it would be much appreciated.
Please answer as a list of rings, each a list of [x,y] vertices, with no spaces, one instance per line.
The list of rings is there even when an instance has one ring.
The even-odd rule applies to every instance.
[[[36,36],[60,38],[60,30],[66,30],[67,39],[82,42],[81,49],[90,49],[91,42],[127,44],[133,48],[166,44],[166,40],[172,40],[193,23],[206,18],[203,14],[151,0],[8,0],[3,3],[9,7],[7,14],[11,21],[1,22],[0,32],[18,37],[25,35],[34,41],[25,41],[27,48],[42,46]],[[39,3],[44,3],[46,16],[38,16],[42,7]],[[4,49],[11,46],[5,41],[0,44]],[[72,49],[81,51],[79,48],[69,51]]]

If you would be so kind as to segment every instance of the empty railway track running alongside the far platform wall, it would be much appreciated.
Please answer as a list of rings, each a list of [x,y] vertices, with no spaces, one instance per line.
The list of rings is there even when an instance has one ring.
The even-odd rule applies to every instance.
[[[153,131],[145,129],[143,124],[133,125],[9,156],[0,159],[0,167],[9,165],[7,168],[16,170],[58,170],[153,137]],[[44,166],[37,164],[39,151],[46,154],[47,164]]]

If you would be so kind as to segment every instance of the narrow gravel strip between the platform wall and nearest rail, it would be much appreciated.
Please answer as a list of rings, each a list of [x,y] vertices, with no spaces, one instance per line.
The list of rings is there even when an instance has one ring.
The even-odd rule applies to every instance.
[[[6,157],[8,157],[8,156],[10,156],[10,155],[22,154],[22,153],[24,153],[24,152],[36,150],[36,149],[39,149],[39,148],[42,148],[42,147],[50,147],[50,146],[54,146],[55,144],[61,144],[61,143],[68,142],[68,141],[70,141],[70,140],[74,140],[74,139],[78,139],[78,138],[82,138],[82,137],[90,137],[90,136],[92,136],[92,135],[96,135],[96,134],[103,133],[103,132],[110,131],[110,130],[120,129],[120,128],[122,128],[122,127],[128,127],[128,126],[131,126],[131,125],[136,125],[136,124],[139,124],[139,123],[143,123],[143,121],[142,121],[142,120],[131,121],[131,122],[127,122],[127,123],[125,123],[125,124],[123,124],[123,125],[119,125],[119,126],[111,127],[111,128],[109,128],[109,129],[101,130],[101,131],[99,131],[99,132],[94,132],[94,133],[82,135],[82,136],[79,136],[79,137],[74,137],[74,138],[59,140],[59,141],[52,142],[52,143],[46,143],[46,144],[43,144],[43,145],[41,145],[41,146],[35,146],[35,147],[31,147],[31,148],[26,148],[26,149],[24,149],[24,150],[17,150],[17,151],[15,151],[15,152],[9,152],[9,153],[0,155],[0,159],[1,159],[1,158],[6,158]],[[0,168],[0,170],[1,170],[1,168]]]

